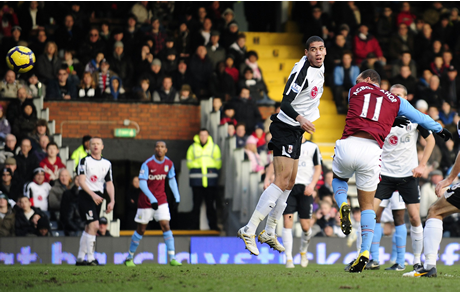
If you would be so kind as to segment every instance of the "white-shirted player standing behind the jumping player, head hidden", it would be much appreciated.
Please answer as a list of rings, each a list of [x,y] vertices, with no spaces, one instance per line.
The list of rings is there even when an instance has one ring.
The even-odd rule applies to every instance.
[[[300,239],[300,265],[307,267],[307,249],[311,238],[311,215],[313,212],[313,193],[316,183],[321,175],[321,153],[318,146],[305,139],[302,139],[300,148],[299,168],[292,192],[287,200],[287,207],[283,213],[283,243],[286,248],[286,268],[294,268],[292,261],[292,226],[294,225],[293,215],[297,211],[302,236]]]

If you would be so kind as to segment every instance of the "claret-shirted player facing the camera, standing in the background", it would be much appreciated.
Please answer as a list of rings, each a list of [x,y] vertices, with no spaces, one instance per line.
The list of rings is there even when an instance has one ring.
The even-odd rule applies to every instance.
[[[155,219],[160,223],[163,231],[163,238],[168,250],[169,263],[171,266],[181,266],[176,261],[174,252],[174,237],[169,227],[171,215],[165,192],[165,180],[168,178],[169,187],[174,194],[176,204],[180,202],[179,189],[177,188],[176,172],[174,171],[173,162],[166,157],[166,143],[158,141],[155,144],[155,155],[147,159],[141,166],[139,172],[139,186],[141,193],[137,202],[137,214],[134,218],[137,224],[137,230],[131,237],[129,246],[129,255],[126,258],[125,265],[134,267],[134,253],[136,252],[139,242],[147,229],[147,224]]]

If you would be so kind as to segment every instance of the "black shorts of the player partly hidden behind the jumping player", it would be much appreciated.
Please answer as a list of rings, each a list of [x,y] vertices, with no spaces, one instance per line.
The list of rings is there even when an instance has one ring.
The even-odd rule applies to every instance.
[[[300,219],[311,219],[313,213],[313,196],[305,196],[305,185],[294,185],[287,200],[283,215],[299,212]]]

